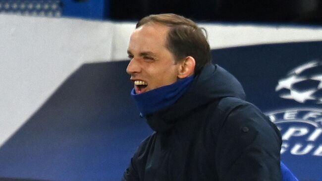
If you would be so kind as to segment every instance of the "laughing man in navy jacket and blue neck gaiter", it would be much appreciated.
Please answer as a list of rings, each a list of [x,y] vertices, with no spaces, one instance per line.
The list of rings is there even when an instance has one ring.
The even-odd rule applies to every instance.
[[[281,181],[279,131],[244,101],[240,83],[211,64],[203,29],[175,14],[141,19],[126,69],[155,131],[122,181]]]

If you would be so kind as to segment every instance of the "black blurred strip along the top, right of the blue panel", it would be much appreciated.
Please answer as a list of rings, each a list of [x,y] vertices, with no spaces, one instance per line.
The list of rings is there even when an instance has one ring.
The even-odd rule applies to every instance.
[[[111,0],[110,18],[173,12],[199,21],[322,23],[321,0]]]

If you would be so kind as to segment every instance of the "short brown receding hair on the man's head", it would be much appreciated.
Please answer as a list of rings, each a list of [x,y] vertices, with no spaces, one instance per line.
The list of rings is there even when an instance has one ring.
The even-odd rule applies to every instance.
[[[166,47],[174,55],[176,61],[187,56],[193,57],[196,60],[195,74],[200,73],[204,65],[210,62],[207,32],[204,28],[198,27],[194,21],[172,13],[152,14],[142,18],[136,24],[136,28],[148,23],[161,23],[170,27]]]

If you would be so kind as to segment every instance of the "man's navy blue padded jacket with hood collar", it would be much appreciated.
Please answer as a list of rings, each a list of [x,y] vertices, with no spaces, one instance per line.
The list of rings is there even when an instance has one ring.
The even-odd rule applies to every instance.
[[[207,64],[176,103],[147,117],[155,132],[122,181],[281,181],[280,133],[244,98],[230,73]]]

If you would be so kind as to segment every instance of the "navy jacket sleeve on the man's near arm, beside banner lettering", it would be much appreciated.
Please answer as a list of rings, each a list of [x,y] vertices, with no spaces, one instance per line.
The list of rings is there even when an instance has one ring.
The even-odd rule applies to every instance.
[[[278,129],[252,104],[226,117],[215,153],[219,181],[282,181]]]

